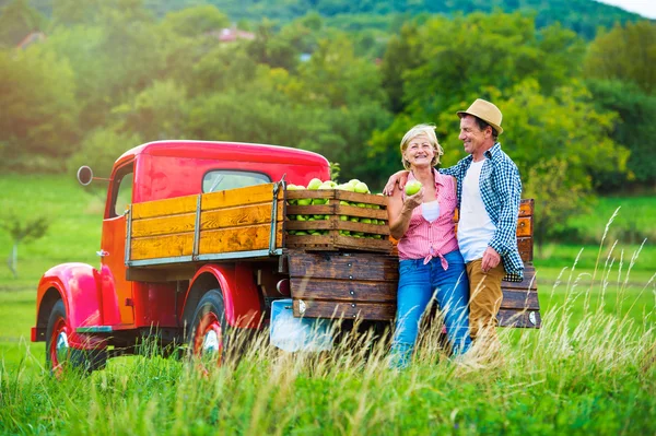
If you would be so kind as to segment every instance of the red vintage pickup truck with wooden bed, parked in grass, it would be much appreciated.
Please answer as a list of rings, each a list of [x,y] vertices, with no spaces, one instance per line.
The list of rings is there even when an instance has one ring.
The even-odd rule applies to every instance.
[[[81,168],[83,184],[91,177]],[[109,179],[99,267],[59,264],[38,284],[32,341],[46,342],[49,368],[98,369],[145,338],[220,362],[226,331],[269,328],[283,299],[296,318],[391,321],[398,260],[382,225],[386,199],[285,189],[313,178],[330,178],[328,161],[283,146],[159,141],[126,152]],[[297,199],[321,197],[331,200],[298,209]],[[294,220],[305,211],[325,219]],[[527,278],[506,284],[502,326],[540,326],[531,215],[524,202]]]

